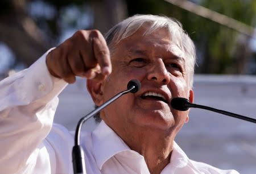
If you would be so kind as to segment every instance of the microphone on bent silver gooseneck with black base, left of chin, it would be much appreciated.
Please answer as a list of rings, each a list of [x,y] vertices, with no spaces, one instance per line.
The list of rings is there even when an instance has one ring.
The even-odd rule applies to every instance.
[[[104,109],[110,103],[117,100],[117,98],[121,97],[123,94],[136,93],[140,89],[141,89],[141,82],[139,82],[137,79],[130,80],[127,84],[127,90],[123,90],[122,92],[116,94],[114,97],[110,98],[110,100],[106,101],[101,106],[97,107],[97,109],[94,109],[89,114],[85,115],[84,117],[82,117],[79,120],[79,123],[77,123],[76,133],[75,133],[75,146],[72,149],[72,160],[73,160],[74,174],[85,173],[84,150],[82,150],[82,147],[80,146],[80,132],[81,132],[82,124],[87,119],[89,119],[93,115],[97,114],[102,109]]]

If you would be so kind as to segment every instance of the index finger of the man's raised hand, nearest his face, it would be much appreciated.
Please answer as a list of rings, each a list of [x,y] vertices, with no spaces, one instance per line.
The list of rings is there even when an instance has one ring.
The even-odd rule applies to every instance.
[[[112,65],[110,60],[110,52],[108,45],[102,35],[93,38],[94,56],[101,67],[101,73],[109,75],[112,72]]]

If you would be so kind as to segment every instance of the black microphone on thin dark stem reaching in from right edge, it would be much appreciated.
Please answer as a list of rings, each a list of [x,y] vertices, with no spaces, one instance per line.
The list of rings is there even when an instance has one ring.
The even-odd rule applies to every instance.
[[[235,113],[230,113],[230,112],[225,111],[225,110],[215,109],[213,107],[197,105],[195,103],[189,102],[189,100],[187,98],[182,98],[182,97],[173,98],[172,101],[171,101],[171,106],[172,106],[172,108],[174,108],[176,110],[180,110],[180,111],[186,111],[186,110],[189,109],[189,107],[200,108],[200,109],[210,110],[210,111],[214,111],[216,113],[228,115],[230,117],[242,119],[242,120],[245,120],[245,121],[248,121],[248,122],[256,123],[256,119],[253,119],[253,118],[250,118],[250,117],[245,117],[243,115],[238,115],[238,114],[235,114]]]

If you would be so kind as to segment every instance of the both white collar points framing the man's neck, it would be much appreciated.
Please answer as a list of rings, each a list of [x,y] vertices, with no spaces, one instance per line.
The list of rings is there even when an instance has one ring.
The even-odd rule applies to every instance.
[[[104,163],[112,158],[116,154],[123,154],[120,152],[131,151],[129,146],[115,132],[108,126],[104,121],[101,121],[96,129],[92,132],[92,143],[93,143],[93,153],[94,158],[98,168],[102,169]],[[131,153],[137,156],[137,153]],[[139,155],[141,156],[141,155]],[[195,167],[188,159],[187,155],[181,148],[174,142],[174,148],[172,150],[172,155],[170,163],[161,172],[170,173],[170,171],[175,171],[177,168],[183,168],[189,165],[191,168]]]

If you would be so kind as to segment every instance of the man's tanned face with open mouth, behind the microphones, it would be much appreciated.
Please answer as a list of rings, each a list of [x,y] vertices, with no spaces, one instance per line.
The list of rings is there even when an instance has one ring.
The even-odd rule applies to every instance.
[[[193,100],[184,53],[172,43],[166,30],[146,36],[143,32],[141,28],[114,46],[113,71],[102,85],[103,102],[127,89],[127,83],[134,78],[141,81],[142,88],[106,107],[102,119],[117,134],[143,127],[177,132],[188,111],[172,109],[170,101],[175,97]]]

